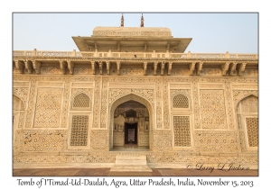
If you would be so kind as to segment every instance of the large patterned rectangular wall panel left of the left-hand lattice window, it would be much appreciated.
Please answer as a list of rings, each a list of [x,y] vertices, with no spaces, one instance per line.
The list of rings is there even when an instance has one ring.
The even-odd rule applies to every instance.
[[[62,88],[38,88],[33,127],[60,126],[62,91]]]

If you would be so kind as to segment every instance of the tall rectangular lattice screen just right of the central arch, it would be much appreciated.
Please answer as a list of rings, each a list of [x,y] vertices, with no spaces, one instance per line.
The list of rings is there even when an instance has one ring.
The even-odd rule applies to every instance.
[[[191,147],[189,116],[173,116],[174,146]]]

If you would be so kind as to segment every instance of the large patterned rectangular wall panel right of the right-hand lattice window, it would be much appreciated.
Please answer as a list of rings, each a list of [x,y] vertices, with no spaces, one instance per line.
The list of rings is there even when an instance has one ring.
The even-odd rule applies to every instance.
[[[203,129],[227,129],[223,90],[200,90]]]

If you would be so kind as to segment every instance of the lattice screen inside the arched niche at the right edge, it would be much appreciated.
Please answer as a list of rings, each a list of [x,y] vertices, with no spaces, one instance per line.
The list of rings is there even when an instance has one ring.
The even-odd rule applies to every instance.
[[[258,146],[258,119],[257,118],[246,118],[247,130],[248,130],[248,144],[249,147]]]

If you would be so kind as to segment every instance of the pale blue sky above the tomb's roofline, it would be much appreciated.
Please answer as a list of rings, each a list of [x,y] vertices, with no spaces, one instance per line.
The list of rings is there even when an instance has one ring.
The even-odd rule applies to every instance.
[[[71,36],[90,36],[97,26],[120,26],[117,14],[13,14],[13,48],[72,50]],[[124,13],[125,27],[139,27],[141,13]],[[168,27],[192,38],[185,52],[257,53],[258,14],[150,14],[145,27]]]

